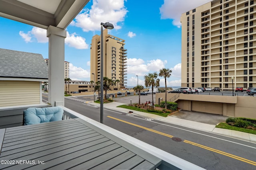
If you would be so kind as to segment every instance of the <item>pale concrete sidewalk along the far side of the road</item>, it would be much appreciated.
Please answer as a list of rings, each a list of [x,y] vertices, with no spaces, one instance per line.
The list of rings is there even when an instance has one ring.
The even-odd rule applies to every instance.
[[[96,105],[96,106],[100,107],[100,104],[94,103],[93,101],[92,102],[86,102],[86,103]],[[129,113],[129,114],[140,115],[140,116],[143,116],[143,117],[148,117],[148,118],[151,118],[151,119],[164,121],[166,123],[172,123],[174,125],[180,125],[180,126],[184,126],[184,127],[188,127],[188,128],[192,128],[192,129],[197,129],[197,130],[200,130],[200,131],[207,131],[207,132],[217,133],[217,134],[220,134],[220,135],[225,135],[225,136],[228,136],[228,137],[233,137],[233,138],[236,138],[236,139],[242,139],[244,141],[250,141],[250,142],[256,143],[256,135],[254,135],[254,134],[244,133],[244,132],[234,131],[234,130],[229,130],[229,129],[216,128],[215,127],[216,125],[211,125],[211,124],[208,124],[208,123],[202,123],[202,122],[198,122],[198,121],[191,121],[191,120],[187,120],[187,119],[180,119],[180,118],[173,117],[173,116],[162,117],[162,116],[155,115],[155,114],[150,114],[150,113],[145,113],[145,112],[141,112],[141,111],[125,109],[125,108],[122,108],[122,107],[117,107],[117,106],[120,106],[120,105],[125,105],[125,104],[118,103],[118,102],[112,102],[112,103],[104,104],[104,108],[114,109],[114,110],[117,110],[117,111],[123,111],[124,113],[128,113],[129,111],[132,111],[133,113]],[[204,113],[199,113],[199,114],[204,114]],[[214,114],[211,114],[211,115],[214,115]],[[219,116],[221,117],[222,115],[219,115]]]

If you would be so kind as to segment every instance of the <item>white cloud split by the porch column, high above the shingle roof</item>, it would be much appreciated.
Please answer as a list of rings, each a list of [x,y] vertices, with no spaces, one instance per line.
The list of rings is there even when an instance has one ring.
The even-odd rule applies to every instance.
[[[48,37],[46,36],[46,29],[33,27],[31,31],[28,33],[24,33],[23,31],[19,32],[20,36],[24,39],[25,42],[33,42],[32,39],[36,39],[34,41],[38,43],[48,43]],[[86,44],[86,39],[84,37],[76,35],[76,33],[70,34],[67,31],[67,37],[65,38],[65,43],[69,47],[74,47],[76,49],[88,49],[89,45]]]

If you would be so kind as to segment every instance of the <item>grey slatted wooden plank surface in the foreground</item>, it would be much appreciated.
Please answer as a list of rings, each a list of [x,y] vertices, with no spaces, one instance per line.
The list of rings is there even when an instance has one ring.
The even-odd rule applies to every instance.
[[[80,118],[0,129],[1,142],[0,169],[155,169],[162,161]]]

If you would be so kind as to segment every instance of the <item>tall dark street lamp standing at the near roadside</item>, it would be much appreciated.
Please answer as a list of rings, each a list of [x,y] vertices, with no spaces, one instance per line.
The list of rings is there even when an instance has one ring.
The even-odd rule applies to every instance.
[[[100,23],[100,123],[103,123],[103,27],[113,29],[112,23]]]

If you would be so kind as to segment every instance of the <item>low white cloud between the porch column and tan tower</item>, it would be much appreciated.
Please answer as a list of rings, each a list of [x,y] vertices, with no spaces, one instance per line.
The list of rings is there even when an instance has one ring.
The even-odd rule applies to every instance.
[[[90,71],[84,70],[81,67],[74,66],[70,63],[70,79],[71,80],[84,80],[90,78]]]

